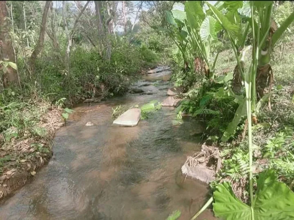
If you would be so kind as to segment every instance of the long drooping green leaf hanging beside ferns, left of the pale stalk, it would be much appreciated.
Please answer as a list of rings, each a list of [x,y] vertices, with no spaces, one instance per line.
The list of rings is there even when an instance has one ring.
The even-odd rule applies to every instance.
[[[246,97],[243,99],[243,102],[239,105],[238,109],[235,112],[233,120],[228,124],[223,136],[221,137],[221,141],[226,142],[233,135],[236,130],[238,124],[240,123],[243,116],[246,115]]]

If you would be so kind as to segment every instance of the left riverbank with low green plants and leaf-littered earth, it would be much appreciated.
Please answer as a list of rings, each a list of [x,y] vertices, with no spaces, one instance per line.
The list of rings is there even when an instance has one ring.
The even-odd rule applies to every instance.
[[[15,126],[1,133],[0,201],[33,179],[49,162],[55,131],[64,125],[63,109],[47,101],[16,105],[1,109],[6,114],[13,111],[9,117]]]

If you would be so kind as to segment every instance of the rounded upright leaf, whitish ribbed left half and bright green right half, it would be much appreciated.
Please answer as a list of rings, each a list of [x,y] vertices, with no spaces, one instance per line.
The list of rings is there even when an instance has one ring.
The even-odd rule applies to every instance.
[[[201,40],[208,41],[209,36],[211,36],[211,38],[215,40],[216,39],[215,29],[216,29],[216,19],[214,19],[211,16],[207,16],[202,22],[200,27],[199,33],[200,33]]]

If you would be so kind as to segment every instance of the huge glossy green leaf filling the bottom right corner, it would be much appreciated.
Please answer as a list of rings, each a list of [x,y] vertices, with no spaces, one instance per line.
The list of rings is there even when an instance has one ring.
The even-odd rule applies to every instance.
[[[233,193],[228,182],[219,184],[213,193],[215,216],[226,220],[252,220],[250,207]],[[255,220],[294,219],[294,193],[277,181],[272,170],[259,174],[252,205]]]

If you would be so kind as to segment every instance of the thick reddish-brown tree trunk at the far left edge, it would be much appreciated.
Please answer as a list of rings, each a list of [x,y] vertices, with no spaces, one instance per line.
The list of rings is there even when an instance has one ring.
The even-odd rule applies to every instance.
[[[15,63],[11,38],[9,35],[10,22],[7,18],[6,1],[0,1],[0,59]],[[14,84],[17,82],[17,72],[10,66],[4,73],[3,84]]]

